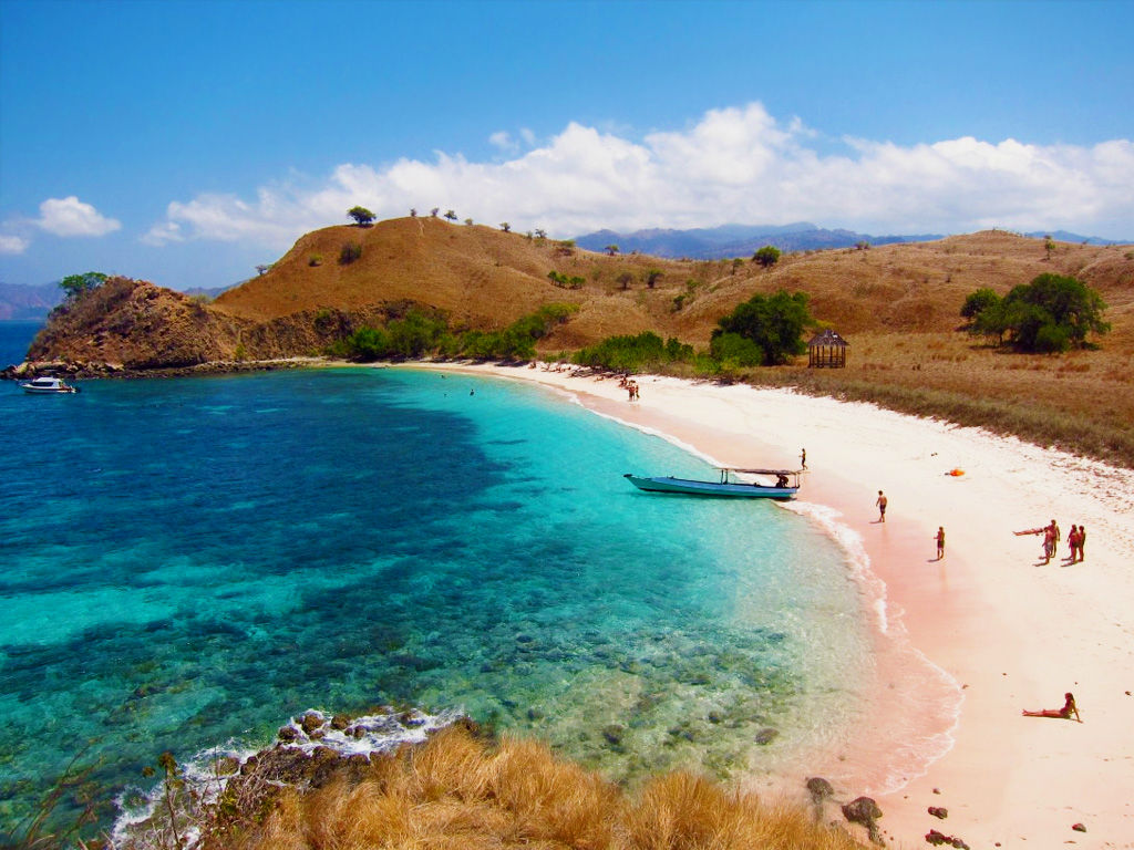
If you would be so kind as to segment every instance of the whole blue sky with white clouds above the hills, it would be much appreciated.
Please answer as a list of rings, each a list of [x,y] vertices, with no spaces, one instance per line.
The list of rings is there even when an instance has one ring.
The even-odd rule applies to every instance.
[[[0,0],[0,281],[409,207],[1134,240],[1134,2]]]

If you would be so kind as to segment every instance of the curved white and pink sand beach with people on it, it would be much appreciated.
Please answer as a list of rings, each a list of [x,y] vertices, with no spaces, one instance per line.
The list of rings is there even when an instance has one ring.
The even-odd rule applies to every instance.
[[[468,368],[558,388],[722,465],[795,468],[806,448],[796,509],[833,517],[829,530],[869,558],[856,579],[879,649],[871,728],[809,775],[841,801],[874,797],[891,845],[925,847],[936,828],[973,848],[1134,848],[1134,473],[785,390],[641,375],[631,403],[611,379]],[[1043,564],[1041,538],[1013,530],[1051,518],[1064,539]],[[1076,564],[1064,561],[1073,522],[1088,528]],[[1067,690],[1082,724],[1021,716],[1061,707]]]

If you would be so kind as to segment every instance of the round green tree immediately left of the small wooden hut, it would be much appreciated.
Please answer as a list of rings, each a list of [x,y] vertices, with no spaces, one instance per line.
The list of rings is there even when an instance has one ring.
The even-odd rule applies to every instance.
[[[718,350],[737,356],[738,342],[730,339],[718,342],[721,337],[736,334],[755,343],[765,365],[785,364],[807,350],[803,331],[814,323],[804,292],[789,295],[781,289],[770,297],[754,295],[717,323],[710,351],[714,357]]]

